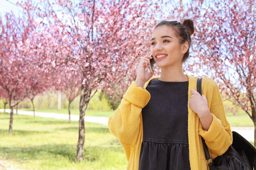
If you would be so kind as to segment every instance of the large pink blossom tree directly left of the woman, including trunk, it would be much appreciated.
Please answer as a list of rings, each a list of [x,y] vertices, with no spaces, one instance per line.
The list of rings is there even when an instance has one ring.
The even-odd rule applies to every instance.
[[[98,89],[114,94],[113,86],[126,89],[127,82],[135,79],[136,63],[150,54],[150,33],[155,24],[152,21],[159,6],[134,0],[63,0],[44,4],[32,6],[26,1],[20,6],[28,13],[37,11],[37,22],[55,38],[52,48],[57,49],[49,52],[56,66],[75,66],[81,75],[77,143],[80,161],[84,152],[85,111],[90,99]]]

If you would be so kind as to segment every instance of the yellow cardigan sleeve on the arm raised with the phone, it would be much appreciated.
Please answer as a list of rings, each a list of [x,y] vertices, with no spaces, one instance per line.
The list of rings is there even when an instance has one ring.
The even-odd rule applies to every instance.
[[[141,123],[141,111],[149,100],[149,92],[132,82],[123,96],[121,104],[114,114],[109,117],[108,126],[110,132],[122,144],[135,145]]]

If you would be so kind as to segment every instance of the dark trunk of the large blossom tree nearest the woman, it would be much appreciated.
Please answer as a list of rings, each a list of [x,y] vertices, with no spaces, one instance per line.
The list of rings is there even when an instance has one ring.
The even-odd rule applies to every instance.
[[[90,92],[91,90],[88,90],[88,88],[85,88],[84,86],[81,87],[81,96],[80,96],[80,116],[79,116],[79,140],[77,143],[77,153],[76,153],[76,159],[77,161],[82,160],[82,155],[84,154],[84,141],[85,141],[85,128],[84,128],[84,117],[85,117],[85,111],[87,109],[87,105],[90,101]]]

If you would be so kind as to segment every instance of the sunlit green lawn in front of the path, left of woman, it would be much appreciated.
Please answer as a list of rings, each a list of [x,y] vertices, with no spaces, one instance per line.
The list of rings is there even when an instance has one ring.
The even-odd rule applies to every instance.
[[[85,122],[84,160],[76,162],[78,122],[0,113],[0,160],[19,169],[126,169],[127,160],[108,126]],[[10,167],[9,167],[10,166]]]

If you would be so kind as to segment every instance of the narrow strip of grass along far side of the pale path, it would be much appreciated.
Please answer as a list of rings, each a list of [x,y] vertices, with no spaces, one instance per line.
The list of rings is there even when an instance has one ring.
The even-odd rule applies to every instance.
[[[32,109],[18,109],[18,113],[20,111],[33,111]],[[44,113],[63,113],[68,114],[68,109],[36,109],[36,112],[44,112]],[[16,113],[16,110],[14,110]],[[95,111],[95,110],[86,110],[86,116],[100,116],[100,117],[109,117],[114,113],[114,111]],[[71,114],[79,115],[79,109],[72,109]]]

